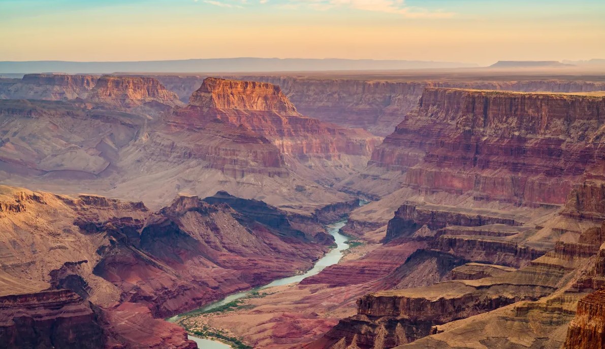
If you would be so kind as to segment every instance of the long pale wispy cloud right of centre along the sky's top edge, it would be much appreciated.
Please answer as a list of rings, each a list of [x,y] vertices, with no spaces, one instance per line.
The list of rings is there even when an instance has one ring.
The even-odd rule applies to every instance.
[[[264,0],[261,0],[263,2]],[[424,8],[405,5],[404,0],[290,0],[292,7],[306,5],[314,10],[330,10],[349,7],[355,10],[402,14],[406,18],[450,18],[454,15],[445,11],[428,11]]]

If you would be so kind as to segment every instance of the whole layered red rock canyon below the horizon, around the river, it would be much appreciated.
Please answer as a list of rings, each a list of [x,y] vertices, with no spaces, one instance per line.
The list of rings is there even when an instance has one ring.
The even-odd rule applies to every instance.
[[[602,346],[605,78],[523,74],[2,79],[0,342]]]

